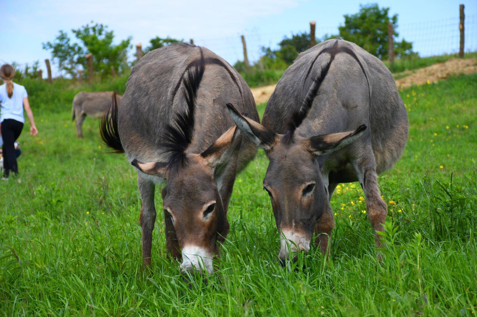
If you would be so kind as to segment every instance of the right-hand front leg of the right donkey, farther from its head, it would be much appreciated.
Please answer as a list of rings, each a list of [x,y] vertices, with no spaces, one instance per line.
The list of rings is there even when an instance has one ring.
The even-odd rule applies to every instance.
[[[368,211],[368,219],[374,229],[376,247],[381,248],[381,236],[376,231],[384,231],[383,223],[387,216],[387,205],[383,198],[381,198],[381,192],[378,187],[378,175],[376,173],[373,149],[369,147],[363,151],[363,155],[353,160],[352,164],[366,196],[366,209]],[[378,258],[380,258],[379,254]]]

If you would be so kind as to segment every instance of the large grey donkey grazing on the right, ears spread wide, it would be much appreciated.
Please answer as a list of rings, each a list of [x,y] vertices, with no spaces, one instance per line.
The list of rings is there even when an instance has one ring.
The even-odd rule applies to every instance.
[[[313,230],[321,252],[329,253],[330,199],[339,183],[360,182],[369,221],[375,231],[383,230],[387,206],[377,175],[400,158],[409,123],[393,76],[379,59],[345,40],[328,40],[300,54],[285,71],[262,125],[228,107],[270,160],[263,185],[282,262],[290,251],[309,250]],[[375,238],[380,247],[376,232]]]

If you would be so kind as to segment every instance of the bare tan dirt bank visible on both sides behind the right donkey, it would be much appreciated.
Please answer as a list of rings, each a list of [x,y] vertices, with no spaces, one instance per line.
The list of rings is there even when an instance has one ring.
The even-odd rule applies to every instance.
[[[409,75],[396,80],[396,86],[406,88],[412,85],[422,85],[427,81],[437,82],[450,75],[477,73],[477,59],[449,59],[421,69],[408,71]],[[267,102],[277,85],[252,88],[255,103]]]

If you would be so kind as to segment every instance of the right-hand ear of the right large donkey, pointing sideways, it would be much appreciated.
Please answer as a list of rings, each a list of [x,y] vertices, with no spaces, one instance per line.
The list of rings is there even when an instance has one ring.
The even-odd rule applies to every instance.
[[[358,139],[365,129],[366,125],[363,124],[354,131],[323,134],[311,137],[306,141],[308,143],[307,146],[315,156],[329,154]]]

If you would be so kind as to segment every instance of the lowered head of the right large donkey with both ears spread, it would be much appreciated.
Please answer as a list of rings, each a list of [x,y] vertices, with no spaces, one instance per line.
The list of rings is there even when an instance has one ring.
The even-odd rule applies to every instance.
[[[290,252],[308,251],[316,221],[321,217],[328,195],[317,158],[353,142],[366,129],[303,138],[277,134],[250,120],[227,105],[239,129],[259,148],[265,149],[269,166],[263,181],[280,233],[279,258]],[[295,258],[295,257],[292,257]]]

